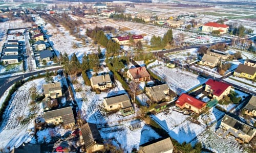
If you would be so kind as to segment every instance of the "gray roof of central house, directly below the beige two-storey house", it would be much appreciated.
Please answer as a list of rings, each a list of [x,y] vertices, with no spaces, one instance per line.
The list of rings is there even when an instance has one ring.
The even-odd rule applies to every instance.
[[[127,94],[115,95],[104,98],[107,105],[115,105],[118,103],[122,103],[123,108],[131,107],[132,104],[130,102],[130,98]]]

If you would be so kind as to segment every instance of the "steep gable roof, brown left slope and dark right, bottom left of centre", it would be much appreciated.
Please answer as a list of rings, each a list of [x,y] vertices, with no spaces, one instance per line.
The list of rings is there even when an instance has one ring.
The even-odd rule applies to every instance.
[[[81,126],[82,139],[86,148],[92,146],[95,141],[97,144],[103,144],[97,125],[94,123],[86,123]]]

